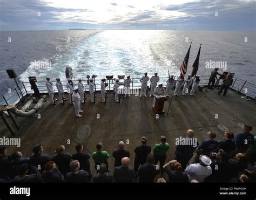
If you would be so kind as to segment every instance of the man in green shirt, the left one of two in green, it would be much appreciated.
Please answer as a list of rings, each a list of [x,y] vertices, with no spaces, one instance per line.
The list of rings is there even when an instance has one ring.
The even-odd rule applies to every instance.
[[[93,152],[92,159],[95,161],[95,169],[97,170],[97,173],[99,173],[99,165],[101,163],[106,164],[106,171],[109,171],[109,163],[107,162],[107,158],[109,158],[109,154],[107,151],[102,150],[102,143],[99,142],[96,145],[97,151]]]

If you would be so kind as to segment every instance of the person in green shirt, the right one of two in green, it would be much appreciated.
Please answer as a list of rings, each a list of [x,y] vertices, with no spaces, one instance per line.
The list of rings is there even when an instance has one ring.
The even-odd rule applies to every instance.
[[[160,172],[163,174],[163,165],[166,159],[166,152],[170,148],[169,143],[166,142],[166,137],[160,137],[160,143],[155,144],[153,151],[154,151],[154,164],[157,164],[158,161],[160,162]]]

